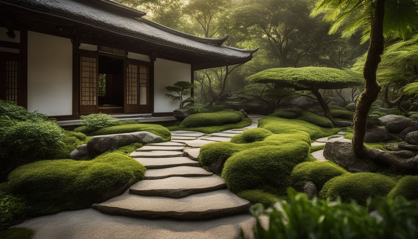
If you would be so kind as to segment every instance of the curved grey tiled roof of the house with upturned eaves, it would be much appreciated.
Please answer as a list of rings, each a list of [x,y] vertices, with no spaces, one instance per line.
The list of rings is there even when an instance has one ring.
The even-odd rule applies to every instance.
[[[227,60],[250,60],[252,53],[258,49],[245,50],[218,46],[215,44],[222,44],[227,36],[219,39],[206,39],[182,33],[145,18],[124,14],[118,9],[112,10],[116,5],[112,5],[114,2],[109,0],[6,0],[2,2],[70,19],[81,24],[104,28],[142,41],[151,41],[162,46],[175,46],[186,51],[222,57]],[[106,4],[112,5],[111,10]],[[127,10],[125,6],[121,8]],[[137,11],[137,13],[141,12]]]

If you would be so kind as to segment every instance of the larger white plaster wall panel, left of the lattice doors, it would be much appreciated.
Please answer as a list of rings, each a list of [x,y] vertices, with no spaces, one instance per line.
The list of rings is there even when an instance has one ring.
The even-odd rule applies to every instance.
[[[70,39],[28,31],[28,111],[72,114]]]

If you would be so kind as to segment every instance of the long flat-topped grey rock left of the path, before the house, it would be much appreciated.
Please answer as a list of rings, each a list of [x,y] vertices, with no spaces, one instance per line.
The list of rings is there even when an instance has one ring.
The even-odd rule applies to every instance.
[[[89,147],[90,157],[95,157],[107,150],[116,149],[128,144],[158,143],[162,140],[163,138],[161,136],[146,131],[138,131],[125,134],[97,135],[89,140],[87,146]]]

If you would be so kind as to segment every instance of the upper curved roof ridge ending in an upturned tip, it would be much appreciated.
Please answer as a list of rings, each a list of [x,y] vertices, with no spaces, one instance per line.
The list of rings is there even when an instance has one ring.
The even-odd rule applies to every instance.
[[[222,36],[222,37],[219,37],[219,38],[199,37],[199,36],[194,36],[194,35],[189,34],[189,33],[184,33],[182,31],[177,31],[177,30],[175,30],[173,28],[169,28],[167,26],[161,25],[160,23],[157,23],[155,21],[151,21],[151,20],[149,20],[147,18],[136,18],[136,20],[137,21],[141,21],[141,22],[143,22],[143,23],[145,23],[147,25],[153,26],[155,28],[159,28],[159,29],[161,29],[163,31],[166,31],[168,33],[172,33],[172,34],[174,34],[176,36],[181,36],[181,37],[184,37],[184,38],[187,38],[187,39],[191,39],[193,41],[198,41],[198,42],[206,43],[206,44],[212,44],[212,45],[218,45],[218,46],[220,46],[229,37],[229,35]]]

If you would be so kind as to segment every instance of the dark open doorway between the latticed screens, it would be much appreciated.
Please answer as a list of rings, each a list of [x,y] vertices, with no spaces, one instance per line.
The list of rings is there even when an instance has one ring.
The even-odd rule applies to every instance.
[[[99,56],[97,93],[99,112],[124,113],[123,109],[123,59]]]

